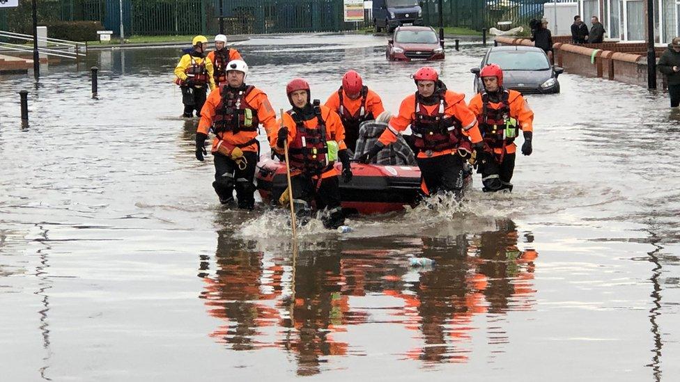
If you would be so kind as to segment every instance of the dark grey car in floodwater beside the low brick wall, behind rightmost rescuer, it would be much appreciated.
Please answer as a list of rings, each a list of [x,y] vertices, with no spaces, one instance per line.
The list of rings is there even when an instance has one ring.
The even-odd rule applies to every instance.
[[[525,46],[502,46],[488,49],[479,67],[473,67],[474,91],[484,90],[479,71],[495,63],[503,70],[503,86],[522,94],[559,93],[557,77],[564,72],[562,67],[550,65],[546,52],[541,48]]]

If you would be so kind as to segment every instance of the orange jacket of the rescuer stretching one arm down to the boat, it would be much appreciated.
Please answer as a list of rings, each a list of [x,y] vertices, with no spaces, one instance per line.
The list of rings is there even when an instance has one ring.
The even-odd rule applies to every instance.
[[[383,132],[383,134],[378,139],[380,143],[383,143],[383,145],[389,145],[390,143],[396,142],[396,136],[403,132],[413,122],[415,122],[415,97],[415,94],[411,94],[404,98],[404,100],[401,102],[401,106],[399,106],[399,115],[394,116],[389,120],[387,129],[385,129],[385,132]],[[461,122],[461,126],[463,126],[463,134],[468,136],[472,143],[481,142],[481,133],[477,127],[477,117],[474,116],[474,113],[472,113],[472,111],[470,111],[468,106],[465,104],[465,95],[447,90],[444,95],[444,102],[446,104],[444,109],[445,116],[454,117],[459,122]],[[427,113],[432,114],[437,111],[439,104],[421,105],[421,107]],[[455,149],[447,149],[432,152],[430,155],[424,151],[421,151],[418,153],[418,157],[439,157],[440,155],[451,154],[455,151]]]

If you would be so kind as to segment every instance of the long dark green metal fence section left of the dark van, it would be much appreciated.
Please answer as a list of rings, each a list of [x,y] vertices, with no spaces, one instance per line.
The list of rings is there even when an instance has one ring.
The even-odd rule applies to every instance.
[[[364,25],[344,22],[343,0],[122,1],[126,35],[217,33],[220,5],[227,34],[345,31]],[[59,6],[56,15],[62,20],[98,20],[114,33],[120,29],[119,0],[52,0],[52,3]],[[0,14],[0,25],[2,21]]]

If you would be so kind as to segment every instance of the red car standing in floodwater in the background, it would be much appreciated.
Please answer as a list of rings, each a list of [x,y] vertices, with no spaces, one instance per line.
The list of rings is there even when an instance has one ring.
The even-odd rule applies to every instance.
[[[431,26],[399,26],[387,40],[389,61],[443,60],[444,48]]]

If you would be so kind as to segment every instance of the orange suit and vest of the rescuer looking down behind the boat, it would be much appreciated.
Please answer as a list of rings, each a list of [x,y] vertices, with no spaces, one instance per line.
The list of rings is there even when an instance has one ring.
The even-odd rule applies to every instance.
[[[375,120],[380,113],[385,111],[383,100],[367,86],[362,86],[360,97],[356,100],[348,97],[340,86],[337,92],[328,97],[325,105],[339,114],[342,125],[345,127],[345,144],[352,151],[355,151],[362,122]]]

